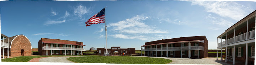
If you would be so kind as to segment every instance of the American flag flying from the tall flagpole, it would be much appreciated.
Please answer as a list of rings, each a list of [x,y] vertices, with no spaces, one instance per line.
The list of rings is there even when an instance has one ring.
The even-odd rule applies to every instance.
[[[100,12],[98,12],[97,14],[92,16],[89,20],[87,20],[85,22],[86,27],[92,24],[100,24],[101,22],[105,22],[105,8],[103,8]]]

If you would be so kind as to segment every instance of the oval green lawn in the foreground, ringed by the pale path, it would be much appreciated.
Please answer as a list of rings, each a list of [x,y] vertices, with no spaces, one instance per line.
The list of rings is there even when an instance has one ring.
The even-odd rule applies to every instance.
[[[167,64],[172,60],[164,58],[128,57],[128,56],[90,56],[67,58],[75,63],[111,63],[111,64]]]

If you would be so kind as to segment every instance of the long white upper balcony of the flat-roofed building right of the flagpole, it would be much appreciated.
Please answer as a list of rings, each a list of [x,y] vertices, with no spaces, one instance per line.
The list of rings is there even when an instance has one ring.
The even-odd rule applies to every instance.
[[[182,48],[182,49],[181,49]],[[162,47],[162,48],[145,48],[142,51],[157,51],[157,50],[203,50],[203,46],[183,46],[183,47]]]

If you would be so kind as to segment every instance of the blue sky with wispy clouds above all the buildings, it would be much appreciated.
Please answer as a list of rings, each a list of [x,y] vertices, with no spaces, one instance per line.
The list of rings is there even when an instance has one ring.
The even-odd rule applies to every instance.
[[[85,22],[107,6],[107,46],[140,46],[145,42],[205,35],[208,49],[217,37],[255,11],[249,1],[0,1],[1,33],[23,34],[38,48],[41,38],[105,46],[105,23]]]

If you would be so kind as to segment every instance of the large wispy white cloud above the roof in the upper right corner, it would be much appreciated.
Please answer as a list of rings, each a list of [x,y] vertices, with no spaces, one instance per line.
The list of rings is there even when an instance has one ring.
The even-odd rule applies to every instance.
[[[254,11],[249,7],[240,5],[233,1],[191,1],[192,5],[200,5],[206,8],[207,12],[218,14],[222,17],[229,17],[234,20],[241,20],[247,14]]]

